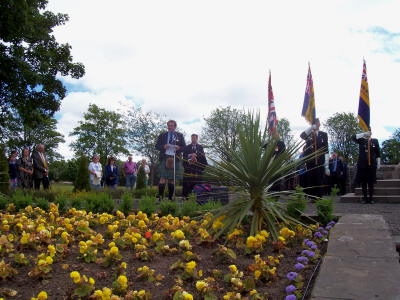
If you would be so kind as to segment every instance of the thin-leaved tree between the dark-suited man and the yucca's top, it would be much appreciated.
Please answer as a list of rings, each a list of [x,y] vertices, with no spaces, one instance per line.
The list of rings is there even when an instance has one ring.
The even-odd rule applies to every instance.
[[[230,150],[239,146],[238,126],[243,124],[247,115],[243,110],[221,107],[213,110],[202,128],[201,141],[214,158],[229,159]]]

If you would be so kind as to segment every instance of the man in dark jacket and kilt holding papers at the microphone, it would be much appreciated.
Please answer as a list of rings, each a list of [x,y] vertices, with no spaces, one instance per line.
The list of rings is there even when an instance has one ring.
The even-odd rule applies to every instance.
[[[185,144],[183,134],[175,131],[176,121],[167,122],[168,131],[161,133],[156,142],[155,148],[160,151],[160,182],[158,184],[159,200],[163,199],[165,185],[168,183],[168,199],[172,200],[175,185],[174,180],[182,179],[182,152]],[[175,161],[174,161],[175,157]],[[174,178],[175,164],[175,178]]]

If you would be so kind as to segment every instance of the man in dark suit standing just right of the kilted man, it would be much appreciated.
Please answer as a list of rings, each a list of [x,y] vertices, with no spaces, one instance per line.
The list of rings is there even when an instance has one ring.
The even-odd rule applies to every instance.
[[[198,135],[192,134],[192,142],[183,150],[183,189],[182,196],[187,198],[193,191],[193,187],[201,183],[201,176],[207,166],[207,159],[203,146],[198,144]]]

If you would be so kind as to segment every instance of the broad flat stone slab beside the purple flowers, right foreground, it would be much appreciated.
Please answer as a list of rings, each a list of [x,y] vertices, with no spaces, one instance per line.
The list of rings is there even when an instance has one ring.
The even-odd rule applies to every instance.
[[[331,232],[311,299],[400,300],[399,254],[380,215],[345,215]]]

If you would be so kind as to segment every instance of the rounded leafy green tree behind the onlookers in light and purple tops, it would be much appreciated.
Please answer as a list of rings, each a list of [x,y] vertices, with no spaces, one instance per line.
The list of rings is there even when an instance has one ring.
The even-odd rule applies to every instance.
[[[70,133],[70,136],[77,137],[70,145],[76,153],[97,153],[103,166],[111,155],[129,154],[127,130],[121,114],[90,104],[83,118]]]

